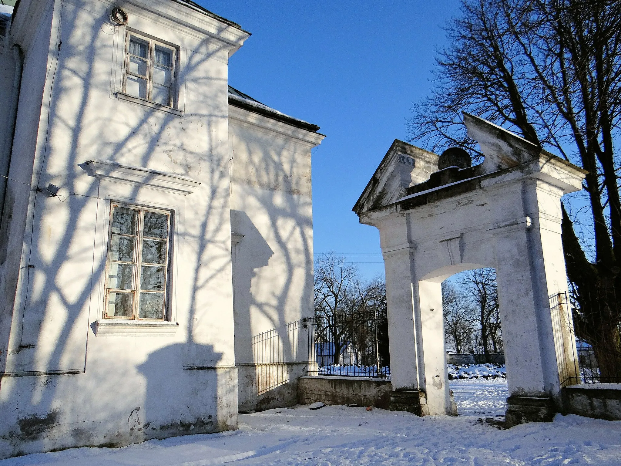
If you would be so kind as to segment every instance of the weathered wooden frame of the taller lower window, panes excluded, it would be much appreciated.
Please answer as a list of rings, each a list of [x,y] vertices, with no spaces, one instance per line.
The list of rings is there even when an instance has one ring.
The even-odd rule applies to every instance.
[[[152,208],[149,206],[143,206],[139,204],[130,204],[125,202],[116,202],[111,201],[109,204],[109,217],[108,217],[108,237],[107,237],[107,248],[106,248],[106,275],[105,279],[105,290],[104,290],[104,309],[103,309],[103,318],[105,320],[115,319],[115,320],[124,320],[127,322],[138,322],[138,321],[146,321],[146,322],[170,322],[171,321],[171,313],[170,313],[170,292],[171,292],[171,281],[172,281],[172,253],[173,253],[173,231],[174,231],[174,221],[175,216],[174,212],[168,209],[161,208]],[[112,219],[114,214],[114,208],[128,208],[137,210],[140,213],[138,214],[138,231],[137,235],[129,235],[124,234],[124,236],[134,236],[136,238],[136,245],[134,250],[135,261],[134,262],[124,262],[120,260],[112,260],[110,257],[111,249],[112,249]],[[143,235],[143,218],[145,212],[157,212],[160,214],[165,214],[168,216],[168,233],[166,237],[166,261],[163,266],[165,267],[165,280],[164,280],[164,309],[163,309],[163,318],[161,319],[152,319],[152,318],[140,318],[140,294],[141,293],[150,293],[150,291],[140,290],[140,277],[142,273],[142,241],[144,238]],[[150,237],[146,238],[147,240]],[[154,240],[163,240],[161,238],[153,238]],[[124,288],[112,288],[109,286],[109,277],[111,274],[111,265],[117,263],[125,263],[132,264],[135,266],[135,272],[132,280],[132,290],[127,290]],[[108,314],[108,301],[110,293],[132,293],[132,316],[114,316]],[[157,291],[157,293],[161,293],[161,291]]]

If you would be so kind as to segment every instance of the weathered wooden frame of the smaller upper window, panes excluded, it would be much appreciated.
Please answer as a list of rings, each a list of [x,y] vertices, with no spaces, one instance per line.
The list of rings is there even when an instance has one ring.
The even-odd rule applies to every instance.
[[[135,73],[132,73],[129,70],[129,59],[131,57],[131,53],[129,52],[129,44],[130,39],[135,37],[139,41],[145,42],[148,45],[148,57],[145,59],[140,57],[141,60],[147,61],[147,76],[140,76]],[[155,47],[165,48],[166,50],[170,50],[171,52],[171,83],[170,83],[170,98],[168,105],[161,104],[159,102],[153,101],[153,62],[155,61]],[[170,45],[165,42],[161,42],[160,40],[150,39],[149,37],[138,34],[136,32],[132,32],[131,30],[127,30],[125,34],[125,58],[123,65],[123,86],[122,92],[132,98],[143,99],[150,103],[161,105],[164,107],[169,107],[171,109],[178,108],[178,89],[177,89],[177,70],[178,70],[178,47]],[[127,93],[127,76],[135,76],[136,78],[146,79],[147,80],[147,96],[145,98],[134,96],[133,94]]]

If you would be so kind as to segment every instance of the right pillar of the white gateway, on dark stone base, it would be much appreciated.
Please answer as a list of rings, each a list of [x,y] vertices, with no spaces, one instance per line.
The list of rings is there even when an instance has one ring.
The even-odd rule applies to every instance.
[[[563,191],[540,180],[517,183],[514,190],[528,215],[489,230],[496,250],[510,394],[508,426],[551,421],[562,411],[561,385],[576,376],[572,326],[554,322],[558,316],[551,309],[551,298],[567,291],[561,244]]]

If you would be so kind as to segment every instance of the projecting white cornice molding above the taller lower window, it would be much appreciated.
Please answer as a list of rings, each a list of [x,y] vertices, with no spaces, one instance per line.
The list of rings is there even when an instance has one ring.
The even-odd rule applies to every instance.
[[[109,180],[134,185],[153,186],[160,190],[175,191],[187,195],[193,193],[201,184],[188,176],[151,170],[150,168],[132,167],[112,160],[89,160],[86,162],[89,175],[99,180]]]

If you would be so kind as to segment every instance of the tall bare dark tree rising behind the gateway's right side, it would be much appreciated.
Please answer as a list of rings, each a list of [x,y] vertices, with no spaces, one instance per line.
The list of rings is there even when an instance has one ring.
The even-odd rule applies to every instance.
[[[567,273],[583,303],[576,332],[598,336],[589,343],[604,379],[621,376],[621,306],[609,306],[621,291],[621,2],[463,0],[446,32],[432,94],[413,107],[412,139],[474,148],[460,124],[468,111],[589,171],[586,208],[562,209]],[[605,318],[589,311],[602,308]]]

